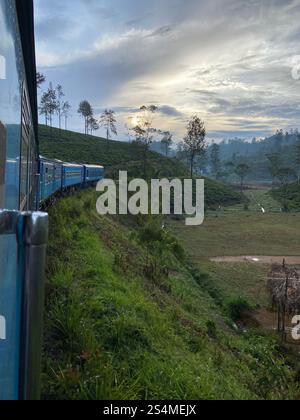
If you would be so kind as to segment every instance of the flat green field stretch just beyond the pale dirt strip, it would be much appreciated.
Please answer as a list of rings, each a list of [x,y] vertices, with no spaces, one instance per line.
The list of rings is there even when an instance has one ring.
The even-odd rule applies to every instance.
[[[300,256],[300,214],[208,212],[202,226],[172,222],[193,260],[216,256]]]

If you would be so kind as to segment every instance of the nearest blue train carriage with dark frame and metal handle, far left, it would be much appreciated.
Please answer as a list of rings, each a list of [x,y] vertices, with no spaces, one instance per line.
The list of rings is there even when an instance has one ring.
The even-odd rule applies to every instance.
[[[0,0],[0,400],[39,397],[48,216],[35,212],[32,0]]]

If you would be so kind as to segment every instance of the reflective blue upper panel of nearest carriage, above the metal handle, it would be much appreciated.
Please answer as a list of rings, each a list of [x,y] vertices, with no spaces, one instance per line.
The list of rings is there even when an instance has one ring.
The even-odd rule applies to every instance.
[[[21,97],[25,78],[15,1],[0,0],[0,183],[5,190],[0,202],[8,209],[19,207]],[[6,139],[5,149],[3,138]],[[3,154],[6,156],[4,157]],[[3,163],[5,159],[6,163]],[[1,190],[3,190],[1,186]],[[2,207],[2,203],[1,203]],[[0,392],[1,394],[1,392]]]

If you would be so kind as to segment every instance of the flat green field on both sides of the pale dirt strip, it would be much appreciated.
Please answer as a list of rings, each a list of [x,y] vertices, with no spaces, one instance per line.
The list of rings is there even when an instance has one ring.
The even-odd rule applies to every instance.
[[[196,267],[209,273],[211,285],[222,291],[225,299],[239,297],[251,305],[267,308],[266,291],[270,264],[247,262],[211,262],[212,257],[300,256],[300,214],[281,213],[280,204],[270,191],[251,189],[248,210],[235,205],[218,212],[208,211],[202,226],[187,228],[171,221],[170,227],[179,238]],[[266,213],[263,214],[261,207]]]

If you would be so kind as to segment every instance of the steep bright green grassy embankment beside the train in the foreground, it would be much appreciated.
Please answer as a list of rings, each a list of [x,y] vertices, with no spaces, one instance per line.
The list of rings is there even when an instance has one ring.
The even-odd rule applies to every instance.
[[[214,273],[160,220],[100,217],[95,203],[86,191],[50,211],[44,398],[299,396],[274,337],[231,329]]]

